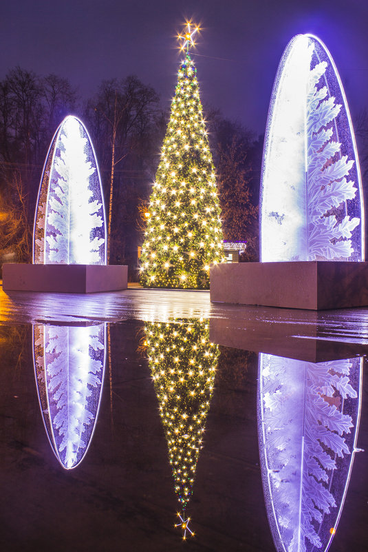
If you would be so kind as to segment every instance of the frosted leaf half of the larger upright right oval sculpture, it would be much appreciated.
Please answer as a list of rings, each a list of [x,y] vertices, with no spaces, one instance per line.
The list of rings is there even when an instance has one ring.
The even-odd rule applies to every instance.
[[[326,129],[340,112],[341,105],[328,95],[326,86],[318,89],[327,63],[318,63],[310,71],[307,83],[307,217],[308,260],[349,258],[353,253],[351,232],[359,218],[345,216],[338,224],[330,209],[343,205],[356,195],[354,182],[345,178],[354,161],[340,155],[341,144],[332,140],[332,128]],[[327,219],[327,220],[326,220]]]

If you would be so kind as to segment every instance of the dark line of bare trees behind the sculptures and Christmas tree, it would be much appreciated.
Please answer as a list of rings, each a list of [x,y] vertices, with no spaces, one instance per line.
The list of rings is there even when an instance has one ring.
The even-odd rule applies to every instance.
[[[128,264],[136,279],[142,212],[169,121],[158,94],[136,76],[102,81],[80,101],[67,79],[14,68],[0,81],[0,264],[32,258],[39,180],[56,128],[67,114],[82,119],[96,150],[105,205],[113,186],[110,263]],[[263,136],[219,110],[205,108],[217,170],[224,238],[248,241],[243,260],[257,260],[258,202]],[[368,176],[368,116],[356,121],[363,185]],[[108,209],[107,209],[108,210]]]

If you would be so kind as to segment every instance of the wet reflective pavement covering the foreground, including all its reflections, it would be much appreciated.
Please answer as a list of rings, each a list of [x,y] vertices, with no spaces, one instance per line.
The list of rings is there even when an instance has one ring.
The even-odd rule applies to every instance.
[[[365,549],[368,309],[1,291],[0,347],[2,552]]]

